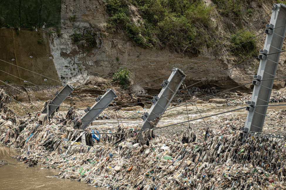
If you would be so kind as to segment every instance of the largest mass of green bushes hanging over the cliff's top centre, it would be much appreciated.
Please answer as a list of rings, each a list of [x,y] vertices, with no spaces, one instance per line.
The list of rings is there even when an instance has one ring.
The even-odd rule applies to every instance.
[[[136,45],[199,53],[214,38],[213,7],[201,0],[133,0],[142,19],[134,22],[127,0],[108,0],[111,30],[125,31]]]

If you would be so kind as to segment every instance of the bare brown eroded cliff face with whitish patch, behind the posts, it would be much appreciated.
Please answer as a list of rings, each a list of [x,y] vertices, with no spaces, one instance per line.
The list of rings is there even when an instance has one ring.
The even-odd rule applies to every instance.
[[[212,2],[207,1],[207,3]],[[257,3],[253,3],[253,16],[244,18],[239,22],[240,25],[246,28],[246,26],[255,23],[272,11],[272,5],[272,1],[263,1],[262,7],[258,6]],[[136,11],[134,14],[136,15]],[[71,16],[76,16],[75,21],[68,19]],[[263,32],[266,23],[270,21],[270,16],[255,24],[251,30],[257,34]],[[106,9],[105,0],[62,0],[61,32],[63,34],[61,37],[53,34],[50,37],[50,47],[57,73],[63,82],[94,84],[94,81],[102,78],[110,80],[118,68],[127,67],[133,73],[133,84],[138,84],[168,75],[173,67],[185,68],[190,65],[184,71],[187,73],[186,84],[191,85],[233,67],[238,59],[232,54],[226,53],[211,60],[228,49],[210,53],[205,57],[202,56],[212,51],[212,48],[205,48],[200,55],[180,55],[170,53],[166,49],[143,49],[128,40],[123,31],[109,31],[106,27],[108,19],[109,13]],[[234,22],[233,19],[221,17],[219,14],[214,16],[213,22],[217,25],[217,35],[221,38],[221,42],[231,37],[230,30],[238,28],[237,21]],[[81,39],[78,43],[72,41],[74,33],[84,35],[88,30],[91,30],[92,35],[96,36],[95,48],[90,48],[84,39]],[[264,40],[265,34],[260,35],[258,47],[263,47]],[[285,53],[281,54],[277,77],[286,75],[284,69],[285,55]],[[199,61],[192,64],[199,58]],[[210,62],[197,68],[207,61]],[[257,73],[257,65],[259,65],[259,60],[229,70],[198,83],[196,86],[229,88],[250,82],[253,75]],[[136,86],[136,89],[133,90],[160,85],[163,79],[167,79],[167,77]],[[283,88],[284,86],[285,80],[277,80],[274,83],[274,88]],[[247,88],[251,88],[251,86],[248,85],[245,89]],[[152,89],[160,88],[154,87]]]

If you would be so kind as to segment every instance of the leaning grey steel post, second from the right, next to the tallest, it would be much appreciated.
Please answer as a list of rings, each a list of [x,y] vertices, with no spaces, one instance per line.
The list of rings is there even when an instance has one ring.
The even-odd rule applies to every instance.
[[[139,131],[139,139],[142,138],[143,131],[156,127],[160,118],[162,117],[168,105],[175,96],[175,92],[179,90],[180,85],[182,85],[186,76],[187,75],[185,75],[182,70],[178,68],[173,68],[172,74],[170,75],[168,80],[163,81],[163,83],[161,84],[163,89],[158,96],[154,96],[151,100],[153,105],[151,106],[149,112],[145,112],[141,117],[143,122],[141,130]]]

